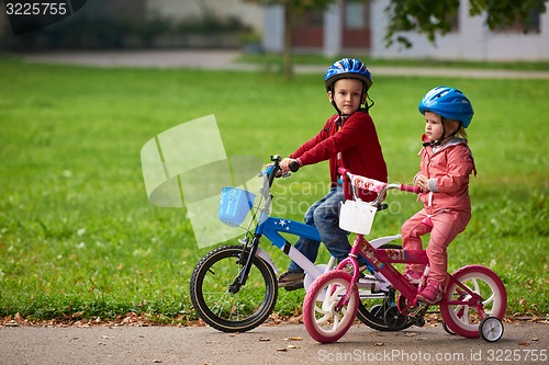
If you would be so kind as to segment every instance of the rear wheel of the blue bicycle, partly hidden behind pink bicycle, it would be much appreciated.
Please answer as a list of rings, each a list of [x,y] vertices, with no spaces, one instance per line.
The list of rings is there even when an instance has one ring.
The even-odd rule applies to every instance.
[[[402,246],[385,243],[380,247],[380,249],[385,250],[402,250]],[[358,303],[357,318],[371,329],[378,331],[402,331],[410,328],[413,323],[411,321],[404,321],[399,326],[389,326],[385,322],[384,316],[386,310],[391,308],[391,299],[389,298],[389,293],[384,298],[365,298],[360,299]]]

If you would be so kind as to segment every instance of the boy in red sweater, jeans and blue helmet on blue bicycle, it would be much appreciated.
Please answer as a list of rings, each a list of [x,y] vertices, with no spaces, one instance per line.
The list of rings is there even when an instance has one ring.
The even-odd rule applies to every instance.
[[[350,244],[347,232],[339,228],[339,207],[345,201],[341,179],[337,174],[345,167],[356,174],[386,182],[386,166],[373,121],[368,114],[368,90],[371,73],[358,59],[343,58],[325,73],[324,84],[328,100],[337,114],[328,118],[321,132],[280,162],[282,171],[296,161],[300,167],[329,160],[330,190],[305,213],[305,224],[316,227],[328,251],[338,260],[347,258]],[[362,106],[363,105],[363,106]],[[361,198],[372,201],[376,194],[360,192]],[[314,262],[318,241],[300,238],[295,248]],[[279,287],[303,287],[305,274],[295,262],[279,277]]]

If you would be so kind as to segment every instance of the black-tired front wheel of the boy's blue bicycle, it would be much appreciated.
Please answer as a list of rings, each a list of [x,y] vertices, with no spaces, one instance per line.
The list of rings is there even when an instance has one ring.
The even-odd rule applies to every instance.
[[[277,303],[277,277],[272,267],[255,256],[246,284],[228,292],[249,250],[242,246],[217,248],[202,258],[191,276],[191,301],[199,317],[223,332],[249,331],[270,316]],[[240,260],[240,256],[243,260]]]

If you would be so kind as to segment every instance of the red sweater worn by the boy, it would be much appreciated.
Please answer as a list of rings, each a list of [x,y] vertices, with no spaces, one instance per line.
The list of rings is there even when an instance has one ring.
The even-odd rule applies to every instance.
[[[338,129],[338,115],[335,114],[321,132],[304,142],[290,158],[299,158],[303,166],[329,159],[332,186],[337,185],[337,155],[341,153],[340,166],[350,172],[366,178],[386,182],[386,164],[383,159],[378,133],[370,115],[363,111],[343,118]],[[362,199],[371,201],[376,194],[361,194]]]

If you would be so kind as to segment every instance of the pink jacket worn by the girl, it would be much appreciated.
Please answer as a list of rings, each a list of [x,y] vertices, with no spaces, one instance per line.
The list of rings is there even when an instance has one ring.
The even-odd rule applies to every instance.
[[[428,141],[424,135],[422,138]],[[436,214],[441,209],[471,213],[469,199],[469,175],[477,168],[467,140],[455,138],[435,152],[433,147],[424,147],[421,152],[419,173],[429,179],[430,192],[419,194],[427,214]]]

